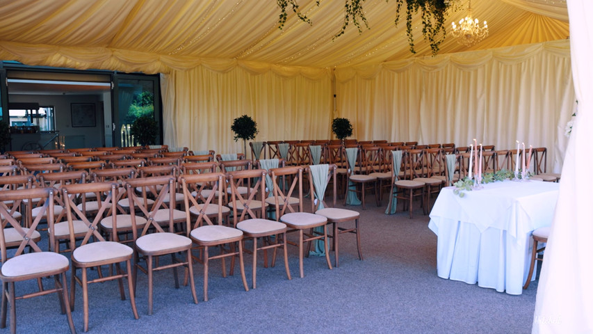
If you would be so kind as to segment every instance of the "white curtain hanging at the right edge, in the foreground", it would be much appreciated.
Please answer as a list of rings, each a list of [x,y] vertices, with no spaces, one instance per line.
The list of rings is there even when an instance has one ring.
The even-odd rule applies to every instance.
[[[537,287],[533,333],[592,333],[590,184],[593,166],[593,1],[569,0],[570,44],[578,115]]]

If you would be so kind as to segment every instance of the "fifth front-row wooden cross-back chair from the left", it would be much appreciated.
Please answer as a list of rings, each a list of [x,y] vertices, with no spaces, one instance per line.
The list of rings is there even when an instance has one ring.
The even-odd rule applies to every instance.
[[[268,267],[268,249],[273,250],[272,267],[276,262],[276,249],[284,250],[284,268],[286,276],[291,279],[288,253],[286,249],[286,224],[266,219],[266,179],[267,171],[263,169],[241,170],[227,173],[227,182],[231,188],[231,199],[228,205],[233,209],[234,226],[243,231],[243,241],[252,239],[252,287],[257,287],[257,252],[263,250],[263,267]],[[255,180],[251,188],[250,182]],[[243,194],[238,190],[247,184],[249,191]],[[259,245],[261,243],[261,245]]]

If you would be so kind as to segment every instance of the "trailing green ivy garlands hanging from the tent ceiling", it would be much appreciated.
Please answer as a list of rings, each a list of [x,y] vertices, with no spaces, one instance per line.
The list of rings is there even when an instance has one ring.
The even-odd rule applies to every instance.
[[[346,32],[350,20],[357,27],[358,32],[362,33],[362,24],[368,28],[368,22],[364,16],[363,3],[366,0],[344,0],[344,21],[339,33],[334,35],[334,39],[343,35]],[[389,0],[385,0],[389,2]],[[409,42],[409,51],[412,54],[416,53],[414,49],[414,35],[412,29],[412,15],[421,12],[422,17],[422,35],[424,39],[430,43],[430,49],[432,55],[439,52],[439,45],[445,40],[446,29],[445,29],[445,16],[448,10],[456,10],[452,8],[453,1],[455,0],[396,0],[396,20],[395,24],[398,26],[400,21],[400,13],[403,13],[405,8],[405,20],[406,20],[406,35]],[[311,19],[300,12],[297,0],[277,0],[276,1],[281,13],[278,20],[278,28],[282,30],[288,17],[287,9],[289,5],[292,6],[293,12],[297,17],[307,24],[313,24]],[[316,6],[319,6],[319,0],[316,1]]]

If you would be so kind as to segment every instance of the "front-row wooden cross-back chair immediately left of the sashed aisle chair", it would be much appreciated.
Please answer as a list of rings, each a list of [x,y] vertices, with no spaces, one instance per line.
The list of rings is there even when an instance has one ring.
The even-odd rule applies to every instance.
[[[286,242],[298,247],[300,277],[304,277],[303,257],[304,252],[309,248],[305,247],[304,244],[309,244],[311,241],[324,241],[325,260],[327,262],[327,267],[332,269],[329,250],[327,250],[327,218],[304,212],[303,210],[302,166],[273,168],[270,170],[270,174],[273,180],[276,219],[277,221],[286,224],[288,232],[298,232],[298,242],[296,244],[289,241]],[[292,180],[289,183],[289,186],[282,186],[282,180],[284,180],[284,178]],[[297,200],[293,202],[291,198],[297,198]]]

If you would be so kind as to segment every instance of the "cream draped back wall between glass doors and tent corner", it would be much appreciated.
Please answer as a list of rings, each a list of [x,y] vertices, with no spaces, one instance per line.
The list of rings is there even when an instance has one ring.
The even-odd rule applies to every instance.
[[[231,132],[234,118],[241,115],[257,122],[257,141],[330,138],[331,77],[325,70],[309,77],[297,71],[277,74],[241,66],[223,70],[198,66],[163,75],[165,143],[191,150],[243,152],[243,143],[235,143]]]

